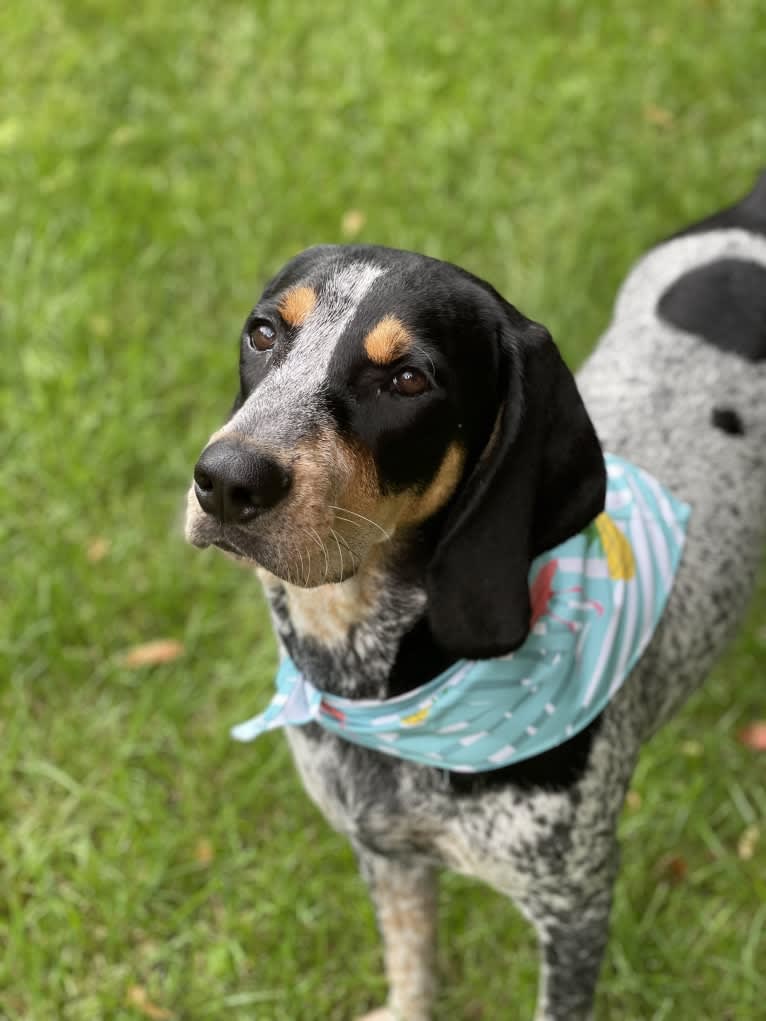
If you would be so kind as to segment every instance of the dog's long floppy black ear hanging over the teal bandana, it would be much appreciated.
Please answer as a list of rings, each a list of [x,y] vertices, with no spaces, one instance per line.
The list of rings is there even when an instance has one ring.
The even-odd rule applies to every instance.
[[[595,431],[550,335],[502,305],[494,430],[447,513],[427,575],[434,637],[471,659],[522,644],[532,561],[604,509],[607,485]]]

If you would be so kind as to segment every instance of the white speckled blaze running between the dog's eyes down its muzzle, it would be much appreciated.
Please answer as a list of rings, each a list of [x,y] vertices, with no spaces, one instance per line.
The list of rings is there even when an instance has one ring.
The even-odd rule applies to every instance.
[[[323,282],[319,299],[295,337],[287,357],[270,372],[229,422],[227,430],[268,427],[273,416],[299,414],[322,392],[338,340],[385,269],[352,262]],[[282,418],[284,422],[284,418]]]

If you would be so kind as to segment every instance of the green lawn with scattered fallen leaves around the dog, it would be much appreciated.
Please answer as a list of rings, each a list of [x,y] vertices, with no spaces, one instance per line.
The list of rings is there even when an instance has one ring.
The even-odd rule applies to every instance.
[[[490,279],[578,361],[633,258],[766,162],[762,16],[0,10],[2,1018],[347,1021],[382,999],[350,852],[279,737],[227,737],[271,683],[257,586],[181,538],[240,322],[286,257],[353,236]],[[762,585],[641,761],[602,1021],[763,1016],[764,762],[734,735],[764,714],[765,609]],[[185,654],[128,668],[154,638]],[[508,904],[447,878],[442,935],[441,1017],[531,1016]]]

